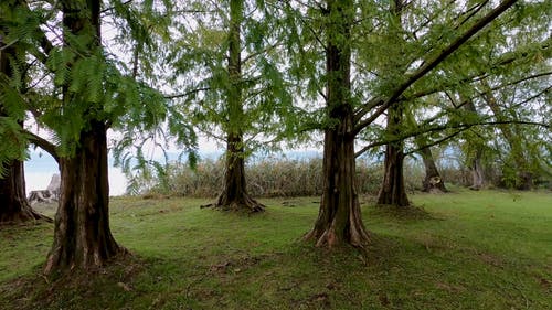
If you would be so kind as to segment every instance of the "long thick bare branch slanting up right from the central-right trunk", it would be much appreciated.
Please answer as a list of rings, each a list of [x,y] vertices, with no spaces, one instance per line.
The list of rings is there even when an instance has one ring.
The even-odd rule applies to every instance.
[[[421,66],[416,72],[408,76],[408,78],[400,84],[391,95],[385,98],[384,103],[378,108],[378,110],[371,115],[369,118],[364,120],[359,120],[357,126],[354,127],[353,135],[357,135],[367,126],[372,124],[380,115],[382,115],[391,105],[396,103],[396,99],[415,82],[425,76],[427,73],[433,71],[437,65],[444,62],[450,54],[453,54],[456,50],[458,50],[464,43],[466,43],[469,39],[476,35],[480,30],[482,30],[486,25],[497,19],[500,14],[502,14],[506,10],[508,10],[511,6],[513,6],[518,0],[506,0],[496,9],[490,11],[487,15],[477,21],[470,29],[468,29],[464,34],[458,36],[455,41],[453,41],[448,46],[443,49],[432,60],[427,61],[423,66]]]

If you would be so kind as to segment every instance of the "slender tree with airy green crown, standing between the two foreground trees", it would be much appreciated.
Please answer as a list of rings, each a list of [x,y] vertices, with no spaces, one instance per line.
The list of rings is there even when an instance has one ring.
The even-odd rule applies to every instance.
[[[264,205],[247,192],[245,162],[263,142],[283,130],[278,122],[285,127],[291,109],[278,68],[285,35],[276,23],[279,13],[263,1],[203,2],[198,7],[204,8],[193,12],[201,15],[198,24],[181,33],[172,56],[178,75],[198,82],[187,85],[190,90],[171,97],[185,99],[182,105],[195,116],[200,131],[226,143],[222,192],[211,205],[263,211]],[[213,15],[214,21],[209,18]],[[222,132],[216,135],[219,129]]]

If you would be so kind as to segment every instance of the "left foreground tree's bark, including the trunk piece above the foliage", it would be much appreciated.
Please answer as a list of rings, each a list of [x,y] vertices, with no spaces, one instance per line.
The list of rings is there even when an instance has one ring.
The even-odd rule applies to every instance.
[[[91,51],[99,49],[99,1],[65,0],[62,4],[66,31],[89,39]],[[92,103],[84,101],[78,94],[68,94],[66,88],[64,103],[91,105],[91,115],[86,115],[89,120],[78,135],[74,153],[60,159],[60,206],[46,274],[100,267],[125,252],[109,229],[107,126],[94,119]]]

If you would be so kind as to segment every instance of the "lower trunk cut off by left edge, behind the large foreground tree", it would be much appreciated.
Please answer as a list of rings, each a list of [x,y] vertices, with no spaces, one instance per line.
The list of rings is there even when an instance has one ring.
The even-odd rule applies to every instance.
[[[0,225],[51,218],[36,213],[25,197],[23,162],[13,160],[8,174],[0,179]]]

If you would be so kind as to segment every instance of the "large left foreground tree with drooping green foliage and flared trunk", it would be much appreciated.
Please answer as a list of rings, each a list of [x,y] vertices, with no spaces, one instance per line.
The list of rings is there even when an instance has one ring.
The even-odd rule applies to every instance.
[[[100,4],[99,0],[67,0],[60,6],[39,1],[9,14],[7,42],[22,43],[20,53],[32,60],[33,84],[22,92],[15,78],[0,79],[0,95],[13,98],[11,109],[26,111],[47,128],[51,139],[30,131],[18,137],[50,152],[61,168],[60,206],[45,272],[99,267],[126,253],[109,228],[108,128],[121,132],[118,152],[132,147],[136,136],[164,132],[164,124],[179,145],[194,140],[193,135],[183,137],[190,131],[174,130],[174,121],[187,127],[163,95],[138,81],[137,70],[128,70],[124,60],[114,58],[102,45],[100,14],[109,12],[114,20],[127,23],[131,40],[139,39],[145,50],[151,47],[144,24],[159,17],[159,7],[140,2],[137,6],[144,11],[139,11],[129,1],[113,1],[113,8],[102,10]],[[41,28],[44,23],[47,26]],[[17,118],[7,120],[13,124]],[[6,127],[2,124],[1,129]],[[21,143],[14,151],[24,148],[26,143]],[[0,153],[0,160],[6,158]]]

